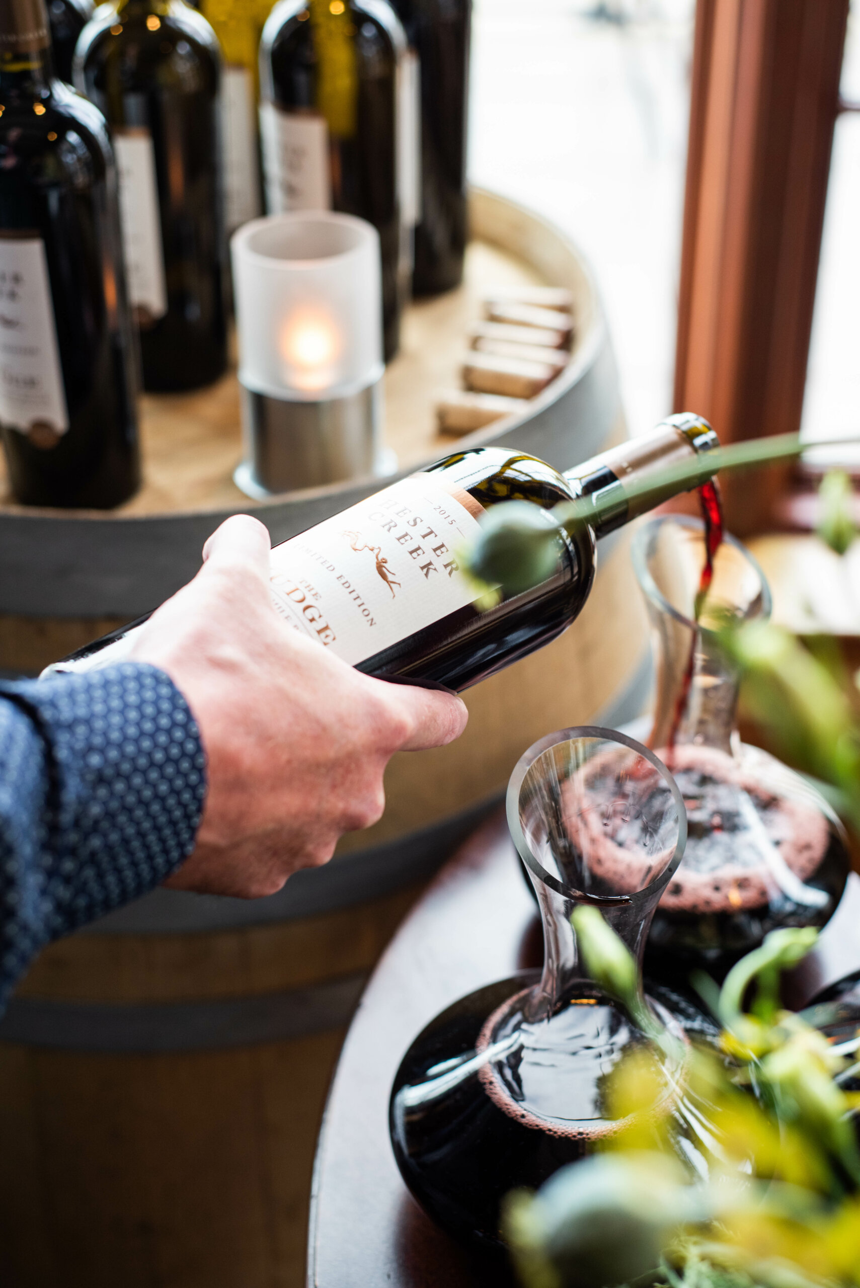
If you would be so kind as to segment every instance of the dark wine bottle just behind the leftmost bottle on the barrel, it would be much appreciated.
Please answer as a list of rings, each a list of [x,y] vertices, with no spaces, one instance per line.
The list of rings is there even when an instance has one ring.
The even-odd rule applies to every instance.
[[[143,384],[210,384],[227,366],[220,63],[215,32],[180,0],[102,5],[81,33],[75,84],[104,112]]]

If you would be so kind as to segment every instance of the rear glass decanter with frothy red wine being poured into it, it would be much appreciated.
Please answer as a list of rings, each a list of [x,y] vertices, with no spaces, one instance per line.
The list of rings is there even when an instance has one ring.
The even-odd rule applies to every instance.
[[[649,746],[671,769],[687,814],[684,862],[654,913],[645,971],[682,988],[694,965],[721,980],[770,930],[829,921],[848,853],[824,797],[736,730],[739,677],[716,627],[770,614],[770,590],[749,551],[725,537],[698,621],[702,522],[654,519],[636,533],[632,555],[657,674]]]

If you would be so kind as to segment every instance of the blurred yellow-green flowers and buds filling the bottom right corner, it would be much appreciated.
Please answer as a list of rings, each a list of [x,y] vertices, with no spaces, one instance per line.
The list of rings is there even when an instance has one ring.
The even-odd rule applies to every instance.
[[[619,984],[633,1010],[639,984],[606,931],[577,925],[604,987]],[[668,1117],[655,1113],[666,1087],[639,1047],[608,1083],[621,1130],[537,1194],[509,1197],[505,1233],[527,1288],[860,1284],[857,1096],[839,1084],[860,1037],[834,1048],[776,997],[779,972],[815,936],[775,931],[738,962],[718,996],[718,1043],[689,1050],[682,1094],[707,1106],[707,1176],[685,1166]]]

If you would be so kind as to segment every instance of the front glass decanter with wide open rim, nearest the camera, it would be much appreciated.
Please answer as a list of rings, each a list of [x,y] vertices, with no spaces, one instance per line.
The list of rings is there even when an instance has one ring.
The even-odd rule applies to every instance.
[[[653,1051],[669,1113],[687,1051],[659,1003],[653,1011],[673,1037],[666,1050],[599,987],[570,921],[581,905],[597,907],[641,962],[686,835],[666,766],[624,734],[554,733],[516,765],[507,818],[541,909],[543,971],[501,980],[436,1016],[404,1056],[390,1104],[394,1154],[415,1198],[487,1251],[502,1248],[510,1190],[537,1188],[624,1122],[605,1104],[624,1052]]]

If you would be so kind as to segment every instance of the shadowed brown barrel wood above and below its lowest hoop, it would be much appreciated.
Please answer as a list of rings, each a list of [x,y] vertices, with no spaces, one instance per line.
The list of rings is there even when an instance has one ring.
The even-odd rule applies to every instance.
[[[331,1072],[360,984],[417,893],[367,903],[360,914],[206,935],[79,935],[46,949],[18,996],[63,1003],[72,1030],[76,1010],[99,1006],[156,1010],[169,1025],[171,1005],[358,987],[336,1024],[239,1048],[0,1042],[0,1282],[303,1283]]]

